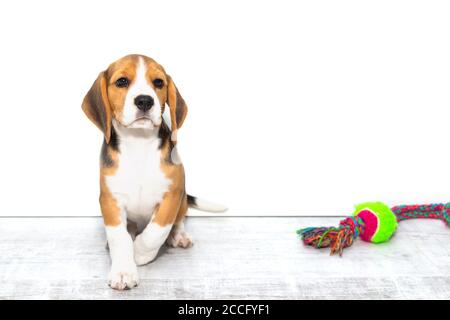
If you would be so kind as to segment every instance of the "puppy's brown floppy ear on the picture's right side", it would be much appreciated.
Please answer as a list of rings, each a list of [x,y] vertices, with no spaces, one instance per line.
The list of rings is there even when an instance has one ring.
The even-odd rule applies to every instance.
[[[167,104],[170,109],[172,141],[177,140],[177,129],[181,128],[187,115],[187,106],[172,78],[167,75]]]

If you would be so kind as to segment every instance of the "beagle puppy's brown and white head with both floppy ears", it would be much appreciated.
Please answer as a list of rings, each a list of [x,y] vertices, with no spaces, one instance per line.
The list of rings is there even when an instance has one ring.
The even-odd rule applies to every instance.
[[[129,55],[100,72],[86,94],[82,109],[111,137],[112,119],[130,129],[154,129],[161,125],[169,106],[172,140],[187,114],[187,106],[172,78],[151,58]]]

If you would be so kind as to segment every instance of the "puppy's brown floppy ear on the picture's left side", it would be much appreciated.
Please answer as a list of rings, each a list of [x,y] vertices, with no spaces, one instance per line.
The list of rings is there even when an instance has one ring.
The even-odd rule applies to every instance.
[[[106,91],[106,72],[98,75],[81,105],[87,117],[103,132],[106,143],[111,138],[111,105]]]

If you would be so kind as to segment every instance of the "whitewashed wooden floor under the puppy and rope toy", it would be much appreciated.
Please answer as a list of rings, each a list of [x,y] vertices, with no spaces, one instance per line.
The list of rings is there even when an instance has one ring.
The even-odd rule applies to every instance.
[[[342,258],[295,230],[339,218],[190,217],[190,249],[164,248],[139,287],[106,284],[100,218],[0,218],[0,299],[450,299],[450,230],[405,221],[386,244]]]

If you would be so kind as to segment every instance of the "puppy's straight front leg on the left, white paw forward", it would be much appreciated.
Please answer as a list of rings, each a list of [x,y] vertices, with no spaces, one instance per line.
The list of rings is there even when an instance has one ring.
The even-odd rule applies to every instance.
[[[111,256],[108,283],[113,289],[131,289],[138,284],[138,273],[133,257],[133,239],[126,226],[126,212],[109,194],[100,197],[100,204]]]

